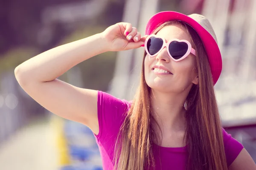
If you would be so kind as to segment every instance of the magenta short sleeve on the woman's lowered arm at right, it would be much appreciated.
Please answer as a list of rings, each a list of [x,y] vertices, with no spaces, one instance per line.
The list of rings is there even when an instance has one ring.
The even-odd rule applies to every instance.
[[[228,134],[223,128],[222,132],[227,166],[230,166],[244,147],[240,142],[238,142],[230,134]]]

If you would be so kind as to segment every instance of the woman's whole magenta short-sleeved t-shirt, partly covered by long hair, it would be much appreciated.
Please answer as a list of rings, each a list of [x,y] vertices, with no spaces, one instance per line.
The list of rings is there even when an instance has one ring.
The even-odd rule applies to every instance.
[[[113,170],[113,153],[117,134],[125,119],[130,102],[117,99],[110,94],[98,91],[98,119],[99,119],[99,134],[95,135],[96,142],[99,146],[99,151],[102,157],[104,170]],[[223,129],[224,147],[227,158],[227,165],[236,159],[243,149],[236,139],[231,137]],[[159,155],[155,155],[156,169],[162,170],[185,170],[188,159],[188,152],[185,147],[160,147]],[[153,147],[153,149],[155,148]],[[161,162],[160,162],[161,161]]]

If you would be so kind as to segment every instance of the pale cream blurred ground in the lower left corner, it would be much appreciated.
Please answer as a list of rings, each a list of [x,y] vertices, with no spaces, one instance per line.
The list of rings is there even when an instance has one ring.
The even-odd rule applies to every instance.
[[[57,170],[57,149],[50,121],[33,121],[0,146],[0,170]]]

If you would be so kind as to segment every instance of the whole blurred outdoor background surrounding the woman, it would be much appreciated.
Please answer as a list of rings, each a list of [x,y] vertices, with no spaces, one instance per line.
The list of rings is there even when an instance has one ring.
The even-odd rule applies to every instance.
[[[36,103],[14,69],[117,22],[132,23],[144,35],[153,14],[170,10],[203,14],[212,23],[223,57],[215,85],[222,124],[256,161],[256,0],[1,0],[0,170],[101,170],[91,131]],[[100,54],[59,79],[130,100],[142,54],[142,48]]]

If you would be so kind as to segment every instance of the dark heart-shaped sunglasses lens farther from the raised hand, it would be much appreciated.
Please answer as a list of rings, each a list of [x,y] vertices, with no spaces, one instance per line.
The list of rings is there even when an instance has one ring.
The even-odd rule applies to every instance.
[[[188,51],[188,44],[186,42],[173,41],[169,45],[169,52],[174,59],[180,59]]]

